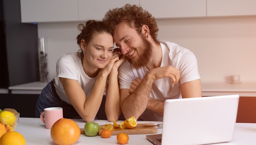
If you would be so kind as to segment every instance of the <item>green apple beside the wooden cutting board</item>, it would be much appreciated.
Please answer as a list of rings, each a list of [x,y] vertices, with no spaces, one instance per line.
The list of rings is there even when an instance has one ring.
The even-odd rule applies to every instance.
[[[84,132],[87,136],[97,136],[99,133],[99,124],[91,121],[86,122],[84,125]]]

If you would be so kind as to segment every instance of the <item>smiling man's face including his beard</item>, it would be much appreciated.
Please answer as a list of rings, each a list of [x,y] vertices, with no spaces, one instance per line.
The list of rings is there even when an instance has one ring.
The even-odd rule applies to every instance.
[[[143,35],[139,35],[134,28],[125,23],[120,23],[114,30],[113,38],[122,54],[130,59],[136,69],[145,66],[149,62],[152,45]]]

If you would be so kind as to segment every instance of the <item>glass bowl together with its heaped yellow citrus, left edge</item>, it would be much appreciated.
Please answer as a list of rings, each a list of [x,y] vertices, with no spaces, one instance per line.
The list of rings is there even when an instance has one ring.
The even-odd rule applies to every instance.
[[[0,137],[9,131],[15,131],[19,113],[13,108],[0,109]]]

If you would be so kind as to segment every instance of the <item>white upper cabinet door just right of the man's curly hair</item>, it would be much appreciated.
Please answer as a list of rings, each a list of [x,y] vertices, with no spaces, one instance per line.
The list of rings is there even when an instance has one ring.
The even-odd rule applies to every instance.
[[[156,19],[206,17],[206,0],[140,0],[140,4]]]

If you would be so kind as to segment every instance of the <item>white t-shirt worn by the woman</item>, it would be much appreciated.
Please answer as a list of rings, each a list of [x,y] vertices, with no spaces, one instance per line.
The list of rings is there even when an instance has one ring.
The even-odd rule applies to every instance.
[[[83,70],[81,58],[77,56],[76,52],[67,53],[58,59],[56,64],[57,76],[54,77],[56,93],[59,95],[60,99],[68,104],[71,104],[67,98],[67,95],[63,89],[63,85],[59,78],[68,78],[72,80],[77,80],[85,92],[86,97],[92,92],[94,83],[97,77],[90,78],[87,76]]]

